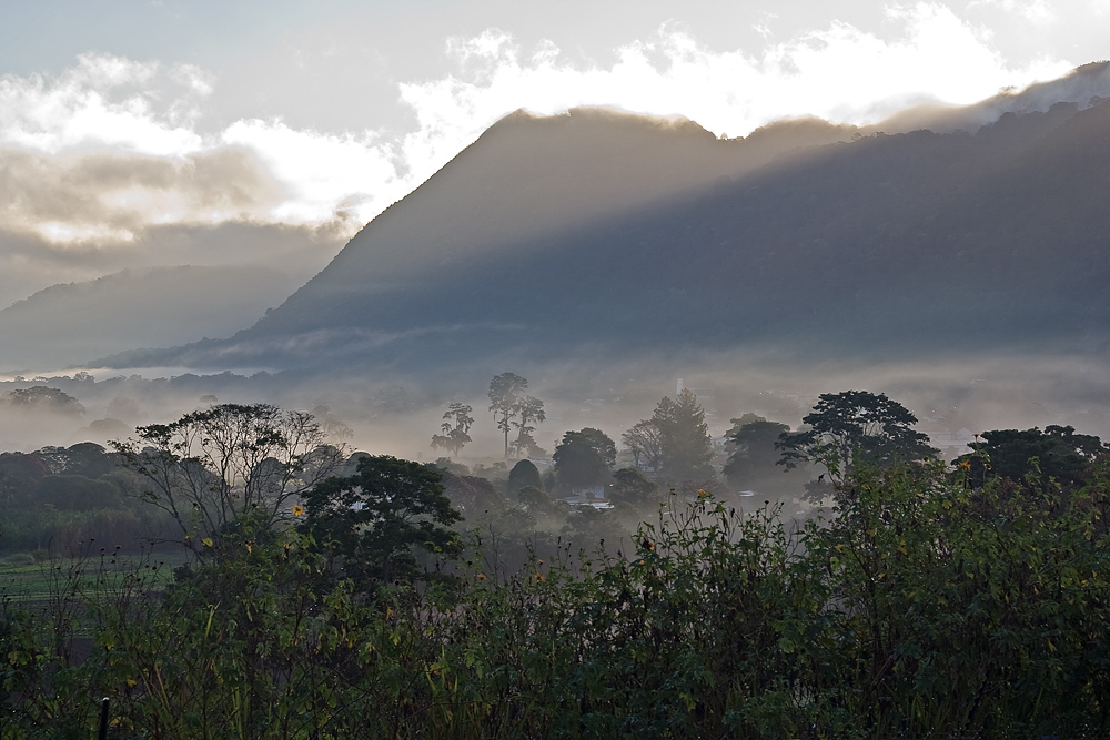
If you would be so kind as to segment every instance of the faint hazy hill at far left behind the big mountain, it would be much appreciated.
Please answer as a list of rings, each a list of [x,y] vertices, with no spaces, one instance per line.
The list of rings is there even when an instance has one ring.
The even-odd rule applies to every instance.
[[[178,266],[52,285],[0,311],[3,366],[65,367],[135,346],[230,336],[299,282],[271,268]]]

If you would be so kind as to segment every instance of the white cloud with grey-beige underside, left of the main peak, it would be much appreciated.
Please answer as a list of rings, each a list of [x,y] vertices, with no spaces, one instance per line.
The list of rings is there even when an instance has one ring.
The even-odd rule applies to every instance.
[[[350,236],[404,195],[372,133],[258,120],[204,131],[214,84],[193,65],[111,54],[56,78],[0,78],[0,253],[36,241],[118,251],[165,224],[337,223]]]

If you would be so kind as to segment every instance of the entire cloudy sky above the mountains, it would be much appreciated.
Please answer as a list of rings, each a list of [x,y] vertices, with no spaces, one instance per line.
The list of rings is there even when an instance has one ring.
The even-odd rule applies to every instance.
[[[521,108],[874,123],[1110,58],[1108,23],[1110,0],[6,2],[0,308],[131,266],[311,276]]]

